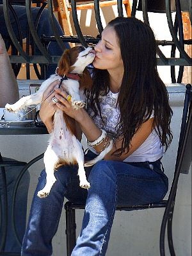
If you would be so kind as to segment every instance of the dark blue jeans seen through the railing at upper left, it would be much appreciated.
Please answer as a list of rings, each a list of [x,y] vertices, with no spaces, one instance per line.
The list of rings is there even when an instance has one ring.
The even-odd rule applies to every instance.
[[[28,18],[26,14],[26,6],[20,6],[20,5],[14,5],[13,6],[15,13],[17,14],[17,18],[20,22],[21,32],[22,32],[22,38],[26,38],[26,28],[28,24]],[[31,13],[33,15],[33,19],[35,20],[35,17],[38,13],[38,10],[40,8],[33,7],[31,8]],[[15,22],[15,19],[13,18],[12,13],[10,12],[10,19],[12,22],[13,31],[16,33],[16,36],[18,35],[17,31],[17,24]],[[59,35],[63,35],[63,30],[61,29],[61,26],[57,19],[54,17],[54,21],[56,22],[56,28],[58,30]],[[38,28],[37,31],[38,37],[41,37],[42,35],[46,35],[47,37],[50,37],[53,34],[52,28],[51,28],[51,21],[49,19],[49,12],[47,9],[44,9],[42,12],[42,15],[40,17],[40,21],[38,22]],[[0,33],[3,38],[9,37],[8,30],[6,28],[6,24],[4,21],[4,14],[3,14],[3,5],[0,4]],[[65,47],[69,48],[69,44],[65,42]],[[63,50],[60,46],[58,46],[57,42],[50,42],[48,46],[48,52],[51,56],[61,56],[63,54]],[[38,48],[36,47],[36,55],[42,55]],[[46,72],[45,72],[45,78],[49,78],[51,74],[55,73],[57,65],[56,64],[50,64],[47,66]]]

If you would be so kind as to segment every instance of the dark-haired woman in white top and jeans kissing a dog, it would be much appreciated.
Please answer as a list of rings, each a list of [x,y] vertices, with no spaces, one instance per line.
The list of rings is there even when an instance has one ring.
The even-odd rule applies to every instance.
[[[49,132],[56,108],[76,119],[88,140],[87,159],[106,148],[109,137],[113,138],[113,149],[86,170],[91,184],[88,191],[79,187],[76,167],[61,167],[55,172],[57,182],[49,196],[45,200],[34,198],[22,256],[51,255],[51,239],[58,228],[64,197],[86,201],[81,234],[72,256],[92,256],[106,254],[116,205],[158,202],[168,191],[160,159],[163,147],[167,149],[172,141],[172,110],[157,74],[152,30],[138,19],[118,17],[102,32],[95,52],[88,113],[73,110],[66,100],[67,93],[56,89],[60,103],[53,105],[49,97],[40,117]],[[106,130],[106,136],[101,129]],[[45,171],[36,192],[44,184]]]

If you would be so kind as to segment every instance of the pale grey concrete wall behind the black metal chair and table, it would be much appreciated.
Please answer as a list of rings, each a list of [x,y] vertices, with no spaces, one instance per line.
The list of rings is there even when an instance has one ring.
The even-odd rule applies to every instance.
[[[33,83],[33,82],[32,82]],[[21,94],[28,94],[28,85],[20,83]],[[177,143],[179,140],[180,118],[184,100],[183,85],[169,85],[170,105],[173,108],[173,142],[163,158],[166,175],[173,177]],[[0,151],[6,157],[29,161],[45,151],[49,135],[0,135]],[[16,149],[16,150],[15,150]],[[28,211],[35,190],[42,161],[29,169],[31,185],[29,189]],[[159,255],[159,232],[163,209],[116,212],[108,256],[157,256]],[[81,228],[83,210],[77,210],[77,234]],[[176,255],[191,255],[191,171],[180,175],[179,187],[173,216],[173,242]],[[53,240],[54,256],[66,255],[65,211],[63,210],[58,232]],[[166,255],[169,255],[166,245]]]

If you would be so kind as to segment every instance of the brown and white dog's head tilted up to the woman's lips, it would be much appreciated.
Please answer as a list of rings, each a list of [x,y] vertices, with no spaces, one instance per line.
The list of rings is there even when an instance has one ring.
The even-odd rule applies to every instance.
[[[60,58],[57,73],[64,76],[68,73],[83,74],[85,67],[93,62],[95,51],[92,47],[75,46],[67,49]]]

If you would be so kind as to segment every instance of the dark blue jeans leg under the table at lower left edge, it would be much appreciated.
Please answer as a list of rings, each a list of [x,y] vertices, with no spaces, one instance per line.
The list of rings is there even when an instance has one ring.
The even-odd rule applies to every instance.
[[[3,160],[11,161],[13,159],[3,157]],[[17,242],[17,239],[13,233],[12,224],[12,199],[13,199],[13,189],[15,186],[15,180],[22,170],[22,166],[9,166],[5,167],[6,173],[6,185],[8,194],[8,232],[6,235],[5,252],[20,252],[21,246]],[[2,195],[2,183],[1,183],[1,172],[0,172],[0,196]],[[19,235],[20,241],[24,237],[26,230],[26,214],[28,205],[28,189],[29,189],[30,175],[29,171],[26,171],[22,179],[20,180],[19,187],[17,190],[17,196],[15,201],[15,225],[17,229],[17,234]],[[1,237],[0,233],[0,237]]]

